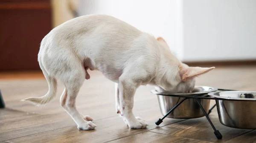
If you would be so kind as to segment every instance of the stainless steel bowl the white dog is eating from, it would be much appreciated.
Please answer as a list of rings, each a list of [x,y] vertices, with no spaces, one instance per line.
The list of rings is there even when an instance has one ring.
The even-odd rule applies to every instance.
[[[195,89],[192,93],[161,93],[156,90],[151,90],[151,93],[157,94],[158,103],[162,115],[166,115],[178,102],[180,102],[182,97],[173,97],[173,95],[183,95],[183,96],[207,96],[207,93],[217,91],[217,88],[206,87],[206,86],[195,86]],[[204,107],[204,110],[208,113],[209,110],[209,99],[200,99],[201,105]],[[178,106],[172,113],[170,113],[168,118],[175,119],[189,119],[189,118],[200,118],[203,117],[204,113],[199,107],[195,98],[186,99],[180,106]]]

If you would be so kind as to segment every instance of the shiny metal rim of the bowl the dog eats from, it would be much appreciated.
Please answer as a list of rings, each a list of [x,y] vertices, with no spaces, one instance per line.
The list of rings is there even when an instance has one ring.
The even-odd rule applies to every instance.
[[[157,94],[157,95],[202,95],[202,94],[207,94],[207,93],[211,93],[211,92],[215,92],[218,90],[218,88],[215,87],[208,87],[208,86],[195,86],[195,87],[207,87],[211,90],[207,90],[207,91],[200,91],[200,92],[194,92],[194,93],[160,93],[156,90],[151,90],[151,93],[153,94]]]

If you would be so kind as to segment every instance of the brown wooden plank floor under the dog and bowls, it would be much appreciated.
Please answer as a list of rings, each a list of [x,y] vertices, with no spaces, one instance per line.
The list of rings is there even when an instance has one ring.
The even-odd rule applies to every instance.
[[[134,101],[134,114],[145,119],[146,129],[129,129],[116,114],[114,83],[102,74],[90,72],[77,98],[77,109],[90,115],[95,130],[81,131],[61,108],[59,97],[64,89],[58,85],[58,95],[44,107],[35,107],[20,99],[42,96],[48,85],[41,73],[1,73],[0,90],[6,109],[0,109],[0,143],[254,143],[256,131],[233,129],[218,121],[216,109],[210,114],[215,127],[223,135],[218,140],[205,117],[196,119],[161,118],[156,95],[151,86],[140,87]],[[197,79],[197,85],[236,90],[256,90],[256,66],[218,67]],[[211,105],[215,101],[211,101]]]

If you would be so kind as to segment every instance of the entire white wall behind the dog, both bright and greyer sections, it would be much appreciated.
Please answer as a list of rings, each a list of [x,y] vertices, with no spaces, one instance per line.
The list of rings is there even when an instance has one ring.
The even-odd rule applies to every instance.
[[[256,59],[256,0],[80,0],[86,14],[162,36],[183,62]]]

